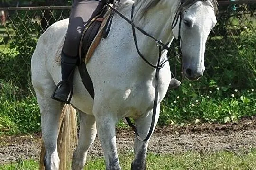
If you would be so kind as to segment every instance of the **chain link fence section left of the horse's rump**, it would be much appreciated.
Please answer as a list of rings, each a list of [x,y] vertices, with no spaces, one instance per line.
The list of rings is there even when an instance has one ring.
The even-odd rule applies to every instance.
[[[70,6],[0,8],[0,81],[31,87],[30,60],[39,36],[53,23],[69,17]]]

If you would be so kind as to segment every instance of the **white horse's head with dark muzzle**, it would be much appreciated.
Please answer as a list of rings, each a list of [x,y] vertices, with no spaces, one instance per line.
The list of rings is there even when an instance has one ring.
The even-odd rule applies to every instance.
[[[177,11],[173,33],[180,40],[183,74],[190,80],[198,80],[205,70],[205,44],[217,12],[215,0],[182,0]]]

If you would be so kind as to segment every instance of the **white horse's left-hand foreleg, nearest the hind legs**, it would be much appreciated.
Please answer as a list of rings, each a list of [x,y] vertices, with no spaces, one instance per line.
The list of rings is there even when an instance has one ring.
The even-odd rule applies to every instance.
[[[117,154],[115,130],[118,118],[110,112],[107,106],[94,106],[93,109],[99,139],[104,152],[106,170],[121,170]]]

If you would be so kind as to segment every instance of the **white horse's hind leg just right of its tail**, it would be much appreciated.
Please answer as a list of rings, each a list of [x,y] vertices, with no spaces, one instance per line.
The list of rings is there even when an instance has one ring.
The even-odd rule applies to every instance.
[[[78,112],[80,130],[78,145],[73,154],[72,170],[83,170],[86,163],[88,149],[91,147],[91,144],[94,142],[97,134],[95,117],[93,115],[83,113],[82,111]]]

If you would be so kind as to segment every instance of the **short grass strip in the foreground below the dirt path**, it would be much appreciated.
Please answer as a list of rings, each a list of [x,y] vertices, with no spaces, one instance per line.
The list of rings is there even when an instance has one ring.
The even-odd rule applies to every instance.
[[[123,170],[130,170],[133,154],[122,154]],[[0,165],[0,170],[37,170],[38,162],[19,160]],[[84,170],[104,170],[103,158],[89,158]],[[185,152],[182,154],[148,154],[147,170],[256,170],[256,149],[248,154],[234,152]]]

